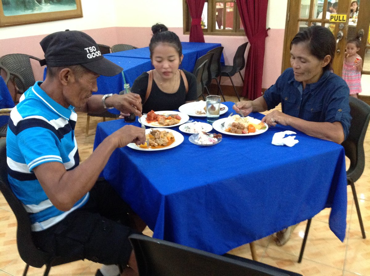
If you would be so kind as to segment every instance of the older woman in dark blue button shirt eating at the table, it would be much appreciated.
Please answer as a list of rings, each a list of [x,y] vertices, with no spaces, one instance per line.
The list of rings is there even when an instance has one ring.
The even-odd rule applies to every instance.
[[[322,26],[300,31],[290,43],[292,67],[286,69],[263,96],[238,102],[233,109],[247,116],[281,103],[282,112],[274,110],[263,117],[262,122],[270,127],[292,126],[309,136],[342,143],[348,135],[351,116],[349,88],[342,78],[331,72],[335,42],[330,30]],[[276,244],[285,244],[295,226],[277,232]]]

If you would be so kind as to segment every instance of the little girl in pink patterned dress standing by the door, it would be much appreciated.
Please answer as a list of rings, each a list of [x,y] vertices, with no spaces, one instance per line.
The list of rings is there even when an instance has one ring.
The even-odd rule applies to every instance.
[[[348,40],[346,55],[343,61],[342,78],[347,82],[349,95],[355,98],[357,98],[357,95],[362,92],[362,59],[357,54],[358,51],[360,51],[360,41],[357,38]]]

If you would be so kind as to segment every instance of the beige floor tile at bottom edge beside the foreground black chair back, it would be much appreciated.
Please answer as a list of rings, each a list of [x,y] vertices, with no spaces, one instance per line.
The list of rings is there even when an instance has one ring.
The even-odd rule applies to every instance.
[[[294,255],[268,248],[261,262],[277,268],[297,272],[303,276],[342,276],[342,269],[334,268],[312,260],[303,259],[302,263],[297,263]]]

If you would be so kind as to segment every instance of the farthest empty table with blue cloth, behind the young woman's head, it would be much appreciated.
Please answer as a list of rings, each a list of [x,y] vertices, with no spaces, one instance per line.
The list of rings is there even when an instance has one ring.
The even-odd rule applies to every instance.
[[[180,64],[180,69],[193,72],[196,60],[205,55],[209,50],[221,46],[220,43],[202,43],[202,42],[181,42],[182,54],[184,58]],[[111,54],[104,55],[117,56],[117,57],[130,57],[130,58],[150,58],[149,47],[132,49],[127,51],[120,51]],[[224,63],[223,55],[221,57],[221,63]]]

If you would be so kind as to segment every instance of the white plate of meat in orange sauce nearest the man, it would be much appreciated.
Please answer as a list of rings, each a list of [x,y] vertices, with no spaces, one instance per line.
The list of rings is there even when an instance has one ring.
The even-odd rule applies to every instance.
[[[165,128],[157,129],[146,129],[145,135],[147,136],[147,141],[142,145],[137,145],[135,143],[129,143],[127,146],[134,150],[167,150],[172,149],[184,141],[184,136],[181,133]]]

